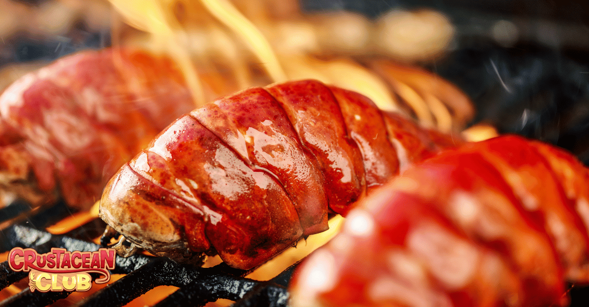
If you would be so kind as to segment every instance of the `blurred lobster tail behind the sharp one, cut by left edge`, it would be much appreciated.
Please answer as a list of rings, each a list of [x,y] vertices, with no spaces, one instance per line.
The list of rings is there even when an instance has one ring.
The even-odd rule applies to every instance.
[[[123,163],[193,108],[174,63],[134,49],[80,52],[25,75],[0,96],[2,196],[90,208]]]

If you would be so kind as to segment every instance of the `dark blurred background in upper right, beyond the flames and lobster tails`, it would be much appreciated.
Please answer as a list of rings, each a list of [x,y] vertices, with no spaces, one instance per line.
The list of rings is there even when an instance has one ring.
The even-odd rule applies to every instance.
[[[551,142],[589,162],[589,1],[309,0],[303,8],[372,18],[399,8],[442,12],[456,29],[452,50],[423,65],[472,98],[473,124]]]

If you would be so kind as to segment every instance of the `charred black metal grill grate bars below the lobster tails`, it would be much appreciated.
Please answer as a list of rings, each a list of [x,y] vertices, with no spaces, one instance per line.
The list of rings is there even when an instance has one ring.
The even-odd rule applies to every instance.
[[[14,215],[7,212],[7,207],[0,211],[0,217]],[[12,209],[14,211],[14,209]],[[33,248],[38,253],[46,253],[51,248],[65,248],[68,251],[98,251],[103,247],[81,239],[97,235],[100,220],[82,225],[65,235],[52,235],[40,231],[47,221],[67,214],[63,203],[45,209],[15,223],[2,231],[0,252],[8,252],[15,247]],[[22,214],[22,213],[21,213]],[[77,237],[77,238],[76,238]],[[236,301],[233,306],[287,306],[289,293],[287,283],[296,265],[290,266],[270,281],[260,282],[244,278],[251,271],[233,269],[221,263],[211,268],[188,268],[178,265],[167,258],[157,258],[137,254],[130,258],[116,258],[115,268],[111,274],[126,274],[123,278],[79,302],[77,306],[123,306],[133,299],[157,286],[176,286],[179,289],[154,306],[204,306],[217,299]],[[93,276],[94,278],[96,276]],[[13,283],[28,279],[26,272],[14,272],[8,262],[0,263],[0,289]],[[29,288],[0,302],[0,306],[46,306],[64,299],[72,292],[31,292]]]

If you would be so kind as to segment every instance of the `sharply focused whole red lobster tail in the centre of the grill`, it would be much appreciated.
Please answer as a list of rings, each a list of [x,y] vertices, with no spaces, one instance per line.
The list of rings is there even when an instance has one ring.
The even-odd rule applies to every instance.
[[[168,126],[111,179],[100,216],[109,235],[123,235],[122,255],[143,248],[198,262],[218,253],[250,269],[325,231],[328,212],[345,215],[461,142],[318,81],[250,88]]]

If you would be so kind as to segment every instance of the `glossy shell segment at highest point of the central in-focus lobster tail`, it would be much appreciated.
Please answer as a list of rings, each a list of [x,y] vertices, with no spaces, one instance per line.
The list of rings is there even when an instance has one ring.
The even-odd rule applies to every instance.
[[[332,92],[317,81],[278,84],[267,91],[286,111],[302,144],[317,161],[329,208],[347,212],[364,192],[364,168]]]

